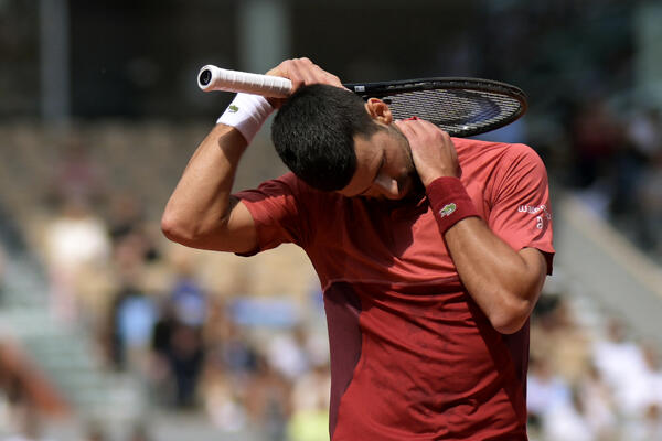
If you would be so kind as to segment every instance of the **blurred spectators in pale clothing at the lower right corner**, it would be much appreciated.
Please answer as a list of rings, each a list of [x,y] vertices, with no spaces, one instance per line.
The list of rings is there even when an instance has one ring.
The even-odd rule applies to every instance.
[[[572,300],[543,297],[532,319],[531,440],[662,440],[659,348],[633,337],[616,316],[578,320]]]

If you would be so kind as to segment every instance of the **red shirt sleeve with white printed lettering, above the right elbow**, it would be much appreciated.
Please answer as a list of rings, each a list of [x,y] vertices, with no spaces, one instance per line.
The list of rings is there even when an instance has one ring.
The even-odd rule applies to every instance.
[[[552,273],[552,207],[547,172],[541,158],[527,146],[513,144],[502,159],[491,196],[490,229],[513,249],[536,248],[547,260]]]

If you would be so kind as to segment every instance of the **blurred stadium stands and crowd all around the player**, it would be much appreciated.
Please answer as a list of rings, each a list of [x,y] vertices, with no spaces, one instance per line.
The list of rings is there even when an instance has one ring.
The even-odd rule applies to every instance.
[[[344,82],[478,76],[530,98],[554,195],[532,441],[662,440],[662,4],[0,0],[0,440],[328,439],[320,287],[159,220],[231,94],[204,64]],[[268,130],[236,187],[285,171]]]

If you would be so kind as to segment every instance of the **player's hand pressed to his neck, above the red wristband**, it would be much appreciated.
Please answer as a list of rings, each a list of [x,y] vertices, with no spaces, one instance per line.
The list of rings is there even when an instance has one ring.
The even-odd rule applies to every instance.
[[[447,132],[418,118],[395,125],[409,141],[414,166],[426,187],[437,178],[460,176],[458,154]]]

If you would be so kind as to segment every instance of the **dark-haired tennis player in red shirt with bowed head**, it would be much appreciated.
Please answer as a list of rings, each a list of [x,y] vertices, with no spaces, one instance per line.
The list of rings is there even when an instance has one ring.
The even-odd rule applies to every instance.
[[[324,292],[332,440],[526,440],[528,316],[554,256],[540,158],[394,121],[307,58],[269,74],[296,93],[237,95],[174,190],[166,236],[303,248]],[[292,172],[231,194],[274,106]]]

